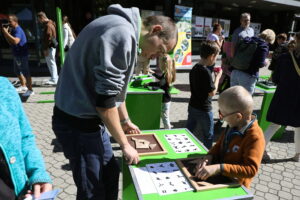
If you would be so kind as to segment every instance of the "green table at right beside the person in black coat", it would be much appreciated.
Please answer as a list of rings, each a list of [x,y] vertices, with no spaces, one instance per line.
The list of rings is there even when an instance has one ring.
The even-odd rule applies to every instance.
[[[261,127],[263,131],[266,131],[271,122],[268,122],[266,120],[267,113],[270,107],[270,103],[272,101],[272,98],[274,96],[276,88],[272,89],[267,89],[264,87],[261,87],[259,85],[256,85],[256,89],[262,91],[264,93],[264,98],[261,104],[261,110],[260,110],[260,115],[258,116],[258,124]],[[272,139],[280,139],[282,137],[283,132],[285,131],[285,127],[281,126],[277,132],[274,134]]]

